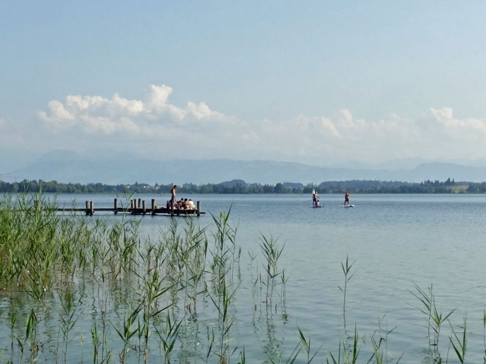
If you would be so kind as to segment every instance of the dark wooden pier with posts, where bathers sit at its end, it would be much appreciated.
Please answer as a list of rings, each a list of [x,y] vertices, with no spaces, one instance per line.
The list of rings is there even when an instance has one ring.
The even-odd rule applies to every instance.
[[[86,205],[84,208],[72,208],[72,207],[63,207],[58,208],[57,211],[59,212],[84,212],[86,215],[94,215],[95,212],[112,212],[115,215],[118,213],[122,214],[131,214],[131,215],[166,215],[166,216],[186,216],[186,215],[196,215],[200,216],[205,214],[201,211],[201,203],[199,201],[196,202],[196,208],[193,210],[182,210],[182,209],[174,209],[174,206],[171,208],[167,208],[165,206],[157,206],[155,203],[155,199],[152,199],[151,206],[147,207],[145,204],[145,200],[141,199],[132,199],[130,200],[130,205],[126,207],[118,207],[118,199],[115,199],[113,202],[113,207],[94,207],[93,201],[86,201]]]

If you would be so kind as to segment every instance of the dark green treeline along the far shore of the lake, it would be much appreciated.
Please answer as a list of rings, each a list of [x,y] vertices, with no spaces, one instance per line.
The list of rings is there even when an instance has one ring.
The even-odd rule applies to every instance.
[[[49,193],[164,193],[168,194],[172,184],[149,185],[147,183],[134,184],[104,184],[104,183],[60,183],[56,181],[23,180],[21,182],[0,182],[0,192],[49,192]],[[319,185],[301,183],[277,183],[276,185],[245,183],[241,180],[234,180],[223,183],[208,183],[196,185],[184,183],[178,186],[177,191],[184,194],[311,194],[315,189],[320,194],[326,193],[486,193],[486,182],[454,182],[448,178],[447,181],[439,182],[424,181],[420,183],[398,182],[398,181],[329,181]]]

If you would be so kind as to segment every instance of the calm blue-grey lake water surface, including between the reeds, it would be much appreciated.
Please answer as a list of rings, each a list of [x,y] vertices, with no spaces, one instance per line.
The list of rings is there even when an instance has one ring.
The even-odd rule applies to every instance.
[[[71,205],[73,197],[78,206],[92,200],[95,206],[111,207],[115,196],[59,195],[57,201]],[[153,195],[138,197],[160,199]],[[321,196],[323,209],[310,208],[309,196],[192,195],[191,199],[200,200],[202,210],[208,213],[195,220],[196,229],[208,229],[209,240],[208,251],[201,250],[198,256],[212,256],[209,252],[216,249],[211,213],[218,216],[220,211],[231,207],[228,222],[238,226],[236,243],[241,251],[232,251],[228,258],[228,262],[238,263],[226,265],[231,278],[225,284],[230,292],[236,290],[226,317],[227,323],[231,322],[227,339],[218,339],[223,306],[219,301],[221,292],[212,283],[216,273],[210,265],[204,272],[207,277],[201,277],[196,284],[198,274],[188,273],[191,271],[188,267],[177,266],[176,257],[169,252],[159,251],[160,260],[156,261],[161,233],[171,231],[173,219],[130,216],[129,219],[139,221],[138,231],[153,245],[154,251],[147,256],[154,260],[144,265],[137,257],[137,250],[146,253],[148,249],[139,246],[145,241],[140,239],[132,242],[135,245],[118,249],[127,253],[118,257],[120,264],[97,267],[95,274],[82,272],[78,267],[71,281],[57,283],[41,302],[28,293],[12,289],[0,293],[0,362],[11,358],[12,343],[17,347],[14,358],[18,359],[17,340],[30,342],[25,337],[25,325],[34,309],[38,313],[35,333],[38,362],[50,362],[56,356],[64,358],[64,351],[69,362],[92,362],[95,352],[99,358],[109,352],[112,360],[119,362],[123,350],[129,362],[139,360],[136,353],[142,353],[143,362],[144,350],[149,361],[163,360],[162,343],[170,342],[174,325],[180,323],[172,352],[174,362],[216,362],[217,356],[208,356],[208,352],[229,350],[231,362],[237,363],[243,347],[247,362],[264,363],[269,357],[285,362],[296,347],[301,347],[298,329],[311,338],[312,355],[322,345],[315,360],[325,362],[330,353],[337,357],[340,347],[352,349],[356,326],[358,362],[366,362],[372,356],[373,342],[380,343],[380,338],[386,338],[382,340],[386,347],[381,344],[380,349],[390,362],[402,355],[400,363],[434,363],[438,360],[437,351],[429,347],[427,318],[417,309],[421,303],[410,293],[415,284],[425,290],[433,284],[435,305],[440,313],[445,315],[455,309],[449,318],[457,332],[463,325],[463,317],[467,317],[467,361],[483,362],[486,196],[352,195],[354,209],[340,209],[343,198],[335,195]],[[86,217],[89,226],[95,226],[96,217]],[[100,214],[98,217],[107,226],[121,221],[120,216]],[[186,220],[178,218],[181,236]],[[276,273],[284,273],[286,283],[282,284],[281,276],[276,276],[271,304],[267,304],[268,263],[261,251],[262,234],[275,237],[278,247],[283,247]],[[103,242],[98,243],[100,249],[90,252],[91,260],[102,259],[109,251],[102,248]],[[178,254],[190,254],[187,249],[179,246]],[[354,262],[354,275],[347,282],[346,316],[343,317],[343,292],[338,286],[343,288],[341,263],[346,262],[347,256]],[[127,257],[130,259],[123,260]],[[196,255],[192,257],[195,259]],[[195,270],[197,264],[192,262],[191,269]],[[138,278],[126,274],[129,266],[135,271],[143,267],[143,271],[138,270]],[[168,279],[171,284],[164,287],[171,287],[164,293],[168,300],[150,308],[155,315],[144,343],[145,334],[140,331],[143,317],[139,316],[132,326],[127,326],[127,322],[137,309],[136,302],[141,300],[142,292],[149,289],[149,278],[155,279],[156,266],[170,266],[160,271],[159,279]],[[230,270],[229,266],[235,269]],[[116,274],[110,274],[113,271]],[[179,277],[179,273],[191,277]],[[180,284],[185,280],[193,281],[193,287],[182,288]],[[200,293],[204,285],[212,296]],[[159,310],[161,314],[156,314]],[[168,323],[166,312],[171,313],[174,322]],[[74,321],[65,333],[63,330]],[[123,343],[127,334],[124,328],[128,333],[133,332],[128,346]],[[443,323],[438,342],[443,362],[451,335],[451,326]],[[226,344],[229,348],[221,347]],[[29,355],[26,352],[23,361],[28,361]],[[299,358],[303,361],[302,355],[303,352]],[[449,360],[456,361],[452,350],[449,350]]]

